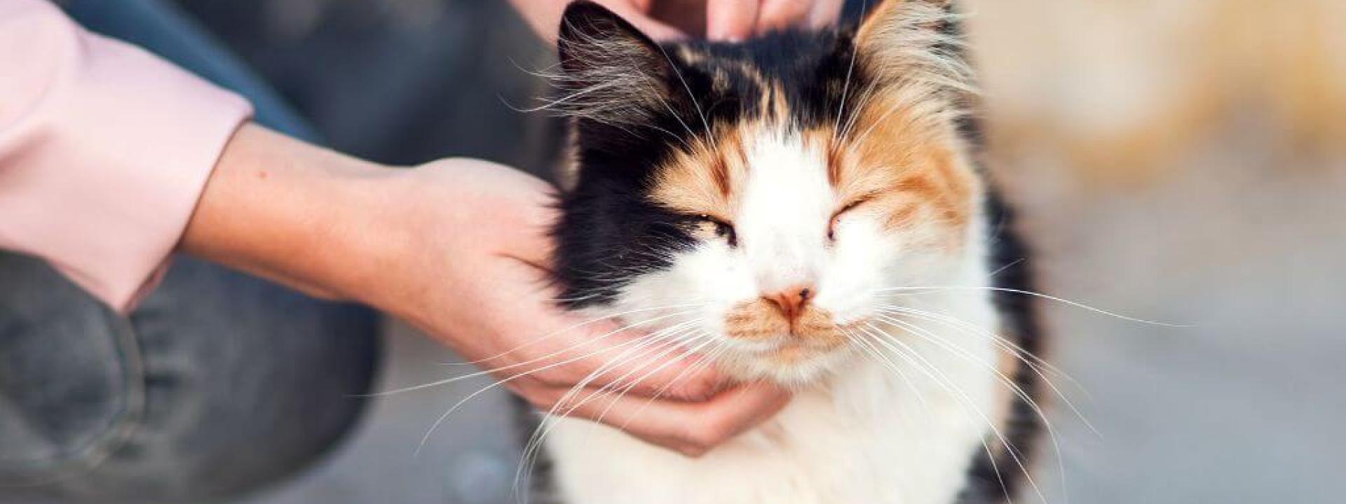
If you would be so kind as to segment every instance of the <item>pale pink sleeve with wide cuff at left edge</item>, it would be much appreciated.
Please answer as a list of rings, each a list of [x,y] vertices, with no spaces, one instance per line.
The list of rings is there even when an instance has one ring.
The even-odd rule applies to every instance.
[[[250,112],[46,1],[0,1],[0,249],[129,309]]]

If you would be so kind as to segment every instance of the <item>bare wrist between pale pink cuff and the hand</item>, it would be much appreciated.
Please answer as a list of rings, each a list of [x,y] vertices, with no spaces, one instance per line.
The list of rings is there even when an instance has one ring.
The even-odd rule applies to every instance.
[[[392,257],[398,171],[245,125],[221,155],[179,249],[306,293],[367,301]],[[376,233],[378,235],[374,235]]]

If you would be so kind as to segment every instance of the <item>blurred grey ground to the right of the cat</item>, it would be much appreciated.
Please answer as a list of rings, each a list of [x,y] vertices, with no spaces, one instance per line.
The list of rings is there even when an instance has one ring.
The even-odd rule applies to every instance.
[[[1265,168],[1242,145],[1162,187],[1030,206],[1047,292],[1194,325],[1050,306],[1051,359],[1098,430],[1057,409],[1071,501],[1339,497],[1346,165]]]

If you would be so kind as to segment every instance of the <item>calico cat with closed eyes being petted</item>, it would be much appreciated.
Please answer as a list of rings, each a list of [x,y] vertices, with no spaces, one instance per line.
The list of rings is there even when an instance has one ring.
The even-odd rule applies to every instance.
[[[979,167],[949,1],[852,27],[656,43],[577,1],[559,40],[573,167],[565,308],[795,391],[689,458],[551,417],[568,504],[992,503],[1031,488],[1042,335]]]

